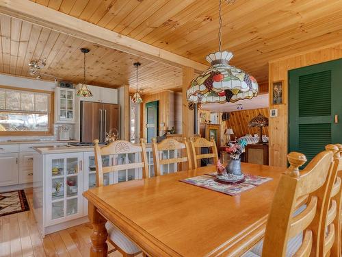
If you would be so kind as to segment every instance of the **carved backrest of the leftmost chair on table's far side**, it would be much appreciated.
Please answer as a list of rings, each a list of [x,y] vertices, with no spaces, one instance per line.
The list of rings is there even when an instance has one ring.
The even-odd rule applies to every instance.
[[[115,140],[105,147],[98,145],[98,139],[94,140],[95,152],[95,166],[96,166],[96,186],[103,186],[103,174],[113,171],[122,171],[124,169],[139,169],[142,168],[142,178],[148,177],[146,145],[144,140],[141,139],[140,145],[133,145],[132,143],[124,140]],[[102,166],[102,156],[116,155],[116,154],[137,154],[141,153],[142,162],[114,164],[111,166]]]

